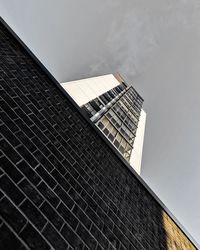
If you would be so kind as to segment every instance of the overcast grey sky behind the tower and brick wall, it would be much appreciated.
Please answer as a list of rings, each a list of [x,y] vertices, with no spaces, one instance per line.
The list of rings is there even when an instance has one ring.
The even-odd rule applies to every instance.
[[[119,71],[145,99],[142,177],[200,244],[200,1],[0,0],[60,81]]]

